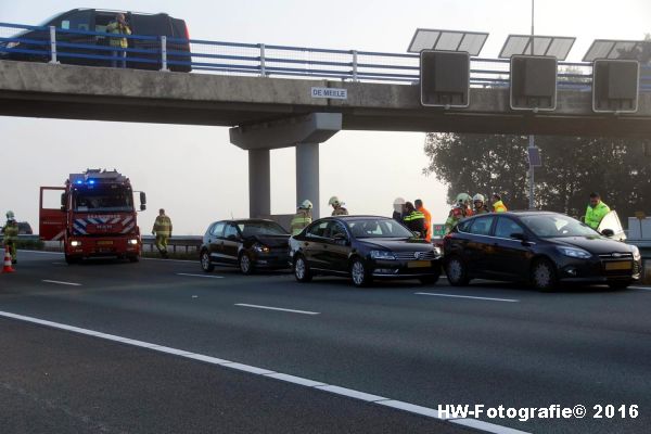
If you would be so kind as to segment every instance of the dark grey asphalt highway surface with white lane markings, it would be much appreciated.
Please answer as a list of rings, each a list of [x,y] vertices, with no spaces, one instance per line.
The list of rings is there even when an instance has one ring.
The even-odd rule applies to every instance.
[[[0,275],[0,426],[649,433],[651,289],[544,294],[442,279],[360,290],[20,252],[17,272]]]

